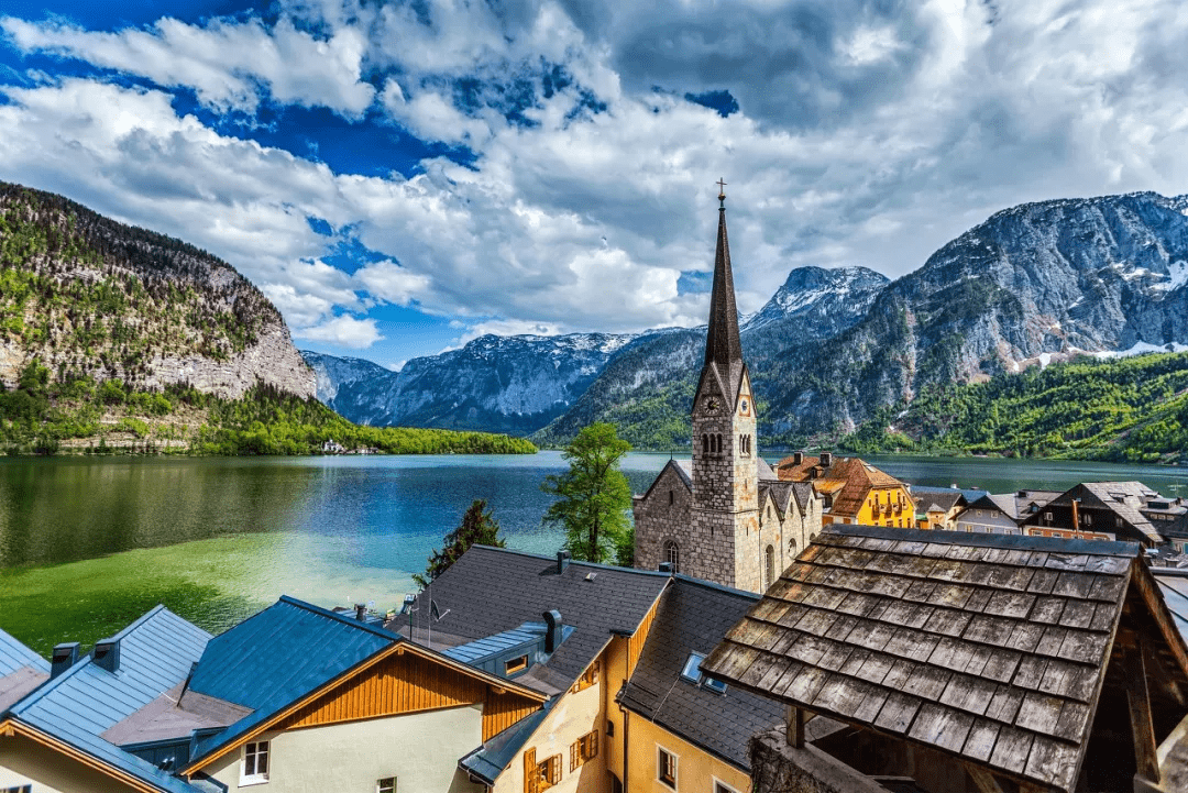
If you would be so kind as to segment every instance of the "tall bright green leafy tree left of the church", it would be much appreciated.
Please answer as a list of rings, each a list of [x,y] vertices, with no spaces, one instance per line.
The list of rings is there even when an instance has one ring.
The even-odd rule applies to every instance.
[[[615,434],[613,424],[592,424],[561,452],[569,470],[548,476],[541,484],[542,490],[557,496],[544,522],[565,529],[565,548],[575,559],[624,558],[619,550],[631,541],[631,488],[619,461],[628,451],[631,444]]]

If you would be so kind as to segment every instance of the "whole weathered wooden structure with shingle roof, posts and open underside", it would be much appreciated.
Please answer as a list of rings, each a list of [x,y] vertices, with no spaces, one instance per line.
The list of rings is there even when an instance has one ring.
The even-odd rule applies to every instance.
[[[1188,780],[1188,646],[1137,543],[833,525],[701,671],[789,706],[759,793]]]

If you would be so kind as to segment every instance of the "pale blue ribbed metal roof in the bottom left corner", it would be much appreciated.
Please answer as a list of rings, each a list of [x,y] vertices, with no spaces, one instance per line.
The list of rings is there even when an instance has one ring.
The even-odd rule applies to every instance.
[[[29,724],[162,791],[194,787],[99,737],[185,679],[210,634],[158,605],[110,640],[120,642],[115,672],[83,658],[8,711]]]

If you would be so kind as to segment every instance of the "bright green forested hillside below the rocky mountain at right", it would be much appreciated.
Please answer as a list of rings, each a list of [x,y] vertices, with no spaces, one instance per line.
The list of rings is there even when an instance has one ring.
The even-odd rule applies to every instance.
[[[923,388],[841,445],[1131,462],[1188,462],[1188,353],[1081,356],[986,382]]]

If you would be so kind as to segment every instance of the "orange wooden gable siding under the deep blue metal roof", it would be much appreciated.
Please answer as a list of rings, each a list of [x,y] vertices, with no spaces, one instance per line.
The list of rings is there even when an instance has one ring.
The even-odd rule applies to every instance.
[[[507,719],[522,718],[538,708],[537,703],[519,694],[494,694],[487,684],[432,660],[399,653],[327,691],[273,729],[337,724],[478,703],[484,704],[484,740],[489,737],[488,721],[492,725],[504,722],[510,725],[512,722]],[[492,704],[498,712],[488,718]]]

